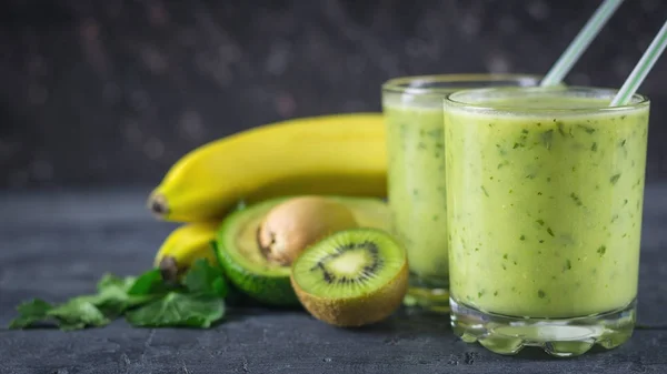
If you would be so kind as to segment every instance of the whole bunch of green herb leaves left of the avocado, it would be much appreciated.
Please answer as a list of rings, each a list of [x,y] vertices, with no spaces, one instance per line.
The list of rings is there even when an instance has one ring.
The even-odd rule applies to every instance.
[[[136,326],[208,327],[223,316],[227,294],[220,267],[202,259],[192,264],[182,285],[167,284],[159,270],[137,277],[104,274],[96,294],[54,305],[38,299],[24,302],[10,328],[46,323],[72,331],[104,326],[122,315]]]

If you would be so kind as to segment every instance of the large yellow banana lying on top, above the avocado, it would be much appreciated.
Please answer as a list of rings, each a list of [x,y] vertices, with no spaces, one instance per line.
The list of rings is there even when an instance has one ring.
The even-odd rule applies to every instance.
[[[221,219],[239,202],[288,194],[386,196],[381,113],[331,114],[266,124],[190,151],[150,193],[159,219]]]

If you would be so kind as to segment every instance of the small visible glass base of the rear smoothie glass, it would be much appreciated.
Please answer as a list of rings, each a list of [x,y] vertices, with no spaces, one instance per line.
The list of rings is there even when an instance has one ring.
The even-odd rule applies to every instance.
[[[447,281],[428,280],[410,274],[410,285],[404,305],[428,312],[449,313],[449,284]]]

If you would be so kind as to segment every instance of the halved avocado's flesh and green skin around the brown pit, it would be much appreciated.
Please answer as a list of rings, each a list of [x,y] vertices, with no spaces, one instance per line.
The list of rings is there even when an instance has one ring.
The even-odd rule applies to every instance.
[[[268,305],[299,305],[290,283],[290,266],[267,261],[257,243],[257,230],[265,215],[290,198],[266,200],[229,214],[220,224],[216,237],[216,250],[229,280],[252,299]],[[382,200],[327,198],[345,203],[359,226],[389,229],[389,210]]]

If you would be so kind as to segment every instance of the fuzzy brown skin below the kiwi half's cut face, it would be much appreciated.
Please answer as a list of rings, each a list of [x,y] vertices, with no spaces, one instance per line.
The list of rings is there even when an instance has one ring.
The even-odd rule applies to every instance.
[[[391,315],[408,292],[408,263],[396,276],[374,293],[350,299],[323,299],[299,287],[293,272],[291,285],[301,305],[316,319],[339,327],[359,327],[380,322]]]

